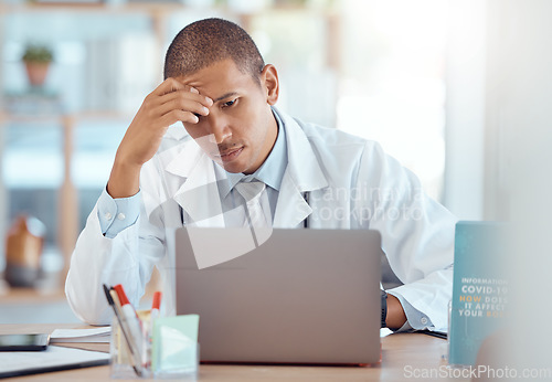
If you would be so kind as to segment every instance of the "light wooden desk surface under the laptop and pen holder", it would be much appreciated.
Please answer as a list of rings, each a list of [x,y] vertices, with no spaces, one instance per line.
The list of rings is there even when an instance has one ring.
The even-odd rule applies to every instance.
[[[52,332],[57,328],[85,328],[78,325],[0,325],[0,333]],[[382,363],[372,368],[357,367],[265,367],[265,365],[200,365],[199,381],[424,381],[432,375],[439,380],[455,378],[442,356],[446,340],[421,333],[390,335],[381,339]],[[74,344],[83,349],[108,351],[108,344]],[[447,371],[448,370],[448,371]],[[440,378],[445,376],[445,378]],[[109,367],[66,370],[8,379],[13,381],[104,381]],[[467,379],[466,379],[467,380]]]

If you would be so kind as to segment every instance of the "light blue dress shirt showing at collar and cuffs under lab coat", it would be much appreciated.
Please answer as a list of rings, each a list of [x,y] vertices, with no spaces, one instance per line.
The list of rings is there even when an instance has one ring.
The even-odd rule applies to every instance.
[[[270,212],[274,221],[276,211],[276,203],[278,193],[282,185],[282,179],[287,168],[287,142],[286,142],[286,127],[278,114],[273,110],[278,125],[278,136],[276,142],[266,158],[265,162],[252,174],[231,173],[225,171],[220,166],[214,166],[216,178],[219,180],[226,179],[227,182],[219,182],[219,193],[223,203],[237,204],[243,203],[242,197],[234,189],[240,182],[251,182],[258,180],[264,182],[267,188],[268,202],[270,204]],[[98,219],[102,232],[106,237],[113,238],[123,230],[135,224],[140,213],[140,192],[136,195],[121,199],[113,199],[107,190],[102,192],[98,200]],[[411,329],[424,329],[433,326],[429,318],[418,310],[414,309],[408,301],[401,295],[393,294],[393,290],[388,290],[389,294],[399,298],[403,306],[407,321],[399,331],[406,331]]]

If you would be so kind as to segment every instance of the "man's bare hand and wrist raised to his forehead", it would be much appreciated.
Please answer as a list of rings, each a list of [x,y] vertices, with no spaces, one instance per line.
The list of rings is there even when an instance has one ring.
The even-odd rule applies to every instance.
[[[139,191],[140,170],[161,145],[170,125],[182,121],[197,124],[198,115],[209,115],[213,100],[199,94],[198,89],[167,78],[146,99],[123,138],[107,192],[112,198],[128,198]]]

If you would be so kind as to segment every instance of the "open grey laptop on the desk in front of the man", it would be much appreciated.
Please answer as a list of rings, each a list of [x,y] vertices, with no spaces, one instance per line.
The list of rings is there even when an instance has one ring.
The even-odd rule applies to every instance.
[[[275,229],[253,251],[198,267],[199,242],[225,252],[248,231],[176,232],[177,314],[200,315],[201,361],[379,362],[379,232]]]

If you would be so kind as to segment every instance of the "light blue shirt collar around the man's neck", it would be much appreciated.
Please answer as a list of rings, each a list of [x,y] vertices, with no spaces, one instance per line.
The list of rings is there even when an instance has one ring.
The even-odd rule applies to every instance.
[[[230,191],[238,182],[251,182],[253,180],[258,180],[264,182],[266,185],[279,191],[282,185],[282,179],[284,179],[284,172],[287,167],[287,141],[286,141],[286,128],[284,123],[277,113],[273,109],[273,115],[276,118],[276,124],[278,126],[278,136],[276,137],[276,142],[266,158],[266,160],[261,165],[261,167],[252,174],[244,174],[242,172],[232,173],[224,171],[220,166],[215,166],[217,172],[217,179],[226,178],[226,182],[219,182],[221,197],[224,199],[227,197]]]

